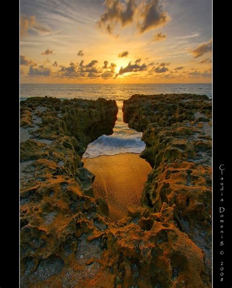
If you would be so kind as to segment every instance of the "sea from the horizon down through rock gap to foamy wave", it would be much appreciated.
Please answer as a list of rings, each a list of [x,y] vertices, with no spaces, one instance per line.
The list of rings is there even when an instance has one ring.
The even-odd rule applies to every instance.
[[[142,133],[128,128],[123,122],[123,100],[134,94],[193,93],[212,98],[211,84],[21,84],[20,100],[33,96],[52,96],[64,99],[82,98],[96,100],[99,97],[116,100],[117,121],[112,135],[102,135],[87,147],[83,158],[120,153],[141,153],[145,143]]]

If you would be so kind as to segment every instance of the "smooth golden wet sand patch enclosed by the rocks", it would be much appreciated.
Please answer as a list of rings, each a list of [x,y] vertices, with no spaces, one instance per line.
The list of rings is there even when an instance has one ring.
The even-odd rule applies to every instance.
[[[151,166],[139,154],[123,153],[114,156],[83,158],[84,167],[95,175],[94,197],[105,199],[111,221],[127,213],[127,205],[140,206],[140,197]]]

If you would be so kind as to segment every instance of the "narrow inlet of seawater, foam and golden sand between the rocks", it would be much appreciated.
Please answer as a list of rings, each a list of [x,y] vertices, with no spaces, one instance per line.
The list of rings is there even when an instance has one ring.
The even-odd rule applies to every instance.
[[[114,133],[90,143],[82,158],[84,167],[95,175],[94,198],[104,199],[109,220],[127,216],[129,204],[139,205],[151,166],[139,153],[145,148],[141,134],[123,122],[122,101],[117,101],[118,115]]]

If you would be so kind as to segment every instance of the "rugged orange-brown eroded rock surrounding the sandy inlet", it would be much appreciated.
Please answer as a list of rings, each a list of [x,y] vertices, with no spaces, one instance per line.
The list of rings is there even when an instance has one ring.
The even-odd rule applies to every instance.
[[[112,134],[113,100],[21,102],[21,287],[211,287],[211,101],[134,95],[124,121],[143,132],[152,166],[141,205],[108,219],[83,168],[87,145]]]

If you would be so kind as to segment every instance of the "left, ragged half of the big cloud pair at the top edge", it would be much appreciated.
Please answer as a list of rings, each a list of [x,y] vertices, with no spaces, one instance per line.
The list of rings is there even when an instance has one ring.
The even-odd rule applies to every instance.
[[[122,27],[133,21],[136,11],[136,0],[105,0],[105,12],[101,15],[98,26],[112,33],[119,23]]]

